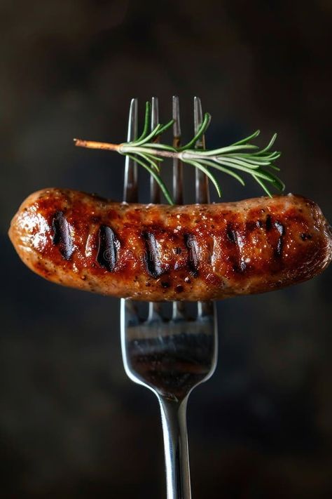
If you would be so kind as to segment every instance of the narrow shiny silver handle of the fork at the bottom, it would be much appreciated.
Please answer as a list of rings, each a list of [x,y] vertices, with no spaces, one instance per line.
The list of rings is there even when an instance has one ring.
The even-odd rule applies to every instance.
[[[158,397],[165,448],[167,499],[191,499],[186,408],[188,397]]]

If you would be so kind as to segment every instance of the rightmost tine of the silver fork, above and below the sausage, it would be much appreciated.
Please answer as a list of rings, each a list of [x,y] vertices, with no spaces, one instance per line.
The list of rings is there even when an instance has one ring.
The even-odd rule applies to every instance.
[[[199,97],[194,98],[194,126],[195,133],[203,121],[202,103]],[[200,140],[195,144],[196,149],[205,149],[205,135],[202,135]],[[195,194],[196,203],[207,204],[210,202],[209,185],[207,182],[207,175],[195,168]],[[212,302],[198,302],[198,317],[210,316],[214,313],[215,305]]]

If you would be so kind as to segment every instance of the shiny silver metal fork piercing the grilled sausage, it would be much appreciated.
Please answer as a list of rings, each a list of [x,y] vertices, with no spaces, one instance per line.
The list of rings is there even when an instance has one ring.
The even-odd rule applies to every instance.
[[[173,97],[173,140],[179,145],[181,129],[179,98]],[[158,100],[152,99],[151,128],[158,123]],[[194,100],[195,132],[202,122],[200,99]],[[130,104],[127,140],[137,136],[137,100]],[[204,147],[204,139],[196,145]],[[174,160],[173,191],[177,204],[183,203],[182,165]],[[153,179],[152,179],[153,180]],[[198,203],[209,202],[207,179],[195,172]],[[151,182],[152,201],[160,193]],[[124,199],[137,201],[137,165],[126,158]],[[191,390],[210,378],[216,367],[216,309],[212,302],[198,302],[197,317],[190,319],[184,302],[173,302],[172,319],[162,316],[159,303],[149,303],[148,319],[137,312],[137,303],[121,300],[121,347],[125,372],[131,380],[153,391],[160,404],[165,447],[167,499],[190,499],[186,406]]]

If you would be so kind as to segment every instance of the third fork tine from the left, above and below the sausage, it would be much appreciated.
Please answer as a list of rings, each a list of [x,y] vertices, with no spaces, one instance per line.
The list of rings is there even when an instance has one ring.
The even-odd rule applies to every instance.
[[[181,144],[181,124],[180,124],[180,104],[179,97],[173,95],[172,100],[172,118],[173,125],[173,147],[179,147]],[[183,166],[179,159],[173,159],[173,197],[175,204],[184,203],[183,189]],[[184,302],[173,302],[172,320],[184,319]]]

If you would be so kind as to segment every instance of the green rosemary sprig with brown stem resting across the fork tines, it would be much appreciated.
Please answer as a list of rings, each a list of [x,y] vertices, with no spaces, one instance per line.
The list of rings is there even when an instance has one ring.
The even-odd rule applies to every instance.
[[[219,197],[221,197],[221,187],[214,176],[214,170],[227,173],[242,185],[244,185],[244,180],[238,172],[247,173],[261,185],[270,197],[272,197],[269,188],[270,185],[280,192],[284,190],[284,182],[271,172],[271,169],[279,171],[274,161],[280,157],[281,153],[277,151],[271,152],[270,150],[277,138],[276,133],[263,149],[259,149],[258,146],[250,142],[259,135],[259,130],[249,135],[249,137],[227,147],[219,147],[212,150],[194,149],[195,143],[207,131],[211,121],[210,114],[206,113],[195,136],[182,147],[172,147],[171,145],[157,143],[155,140],[173,125],[174,120],[172,119],[165,125],[158,124],[153,131],[148,133],[150,118],[151,105],[149,102],[146,102],[143,132],[136,140],[123,142],[122,144],[109,144],[108,142],[74,139],[75,145],[91,149],[117,151],[120,154],[131,157],[153,175],[153,178],[160,185],[162,193],[170,204],[173,204],[172,196],[160,176],[159,168],[160,161],[163,161],[165,158],[178,158],[183,163],[199,168],[212,181]]]

